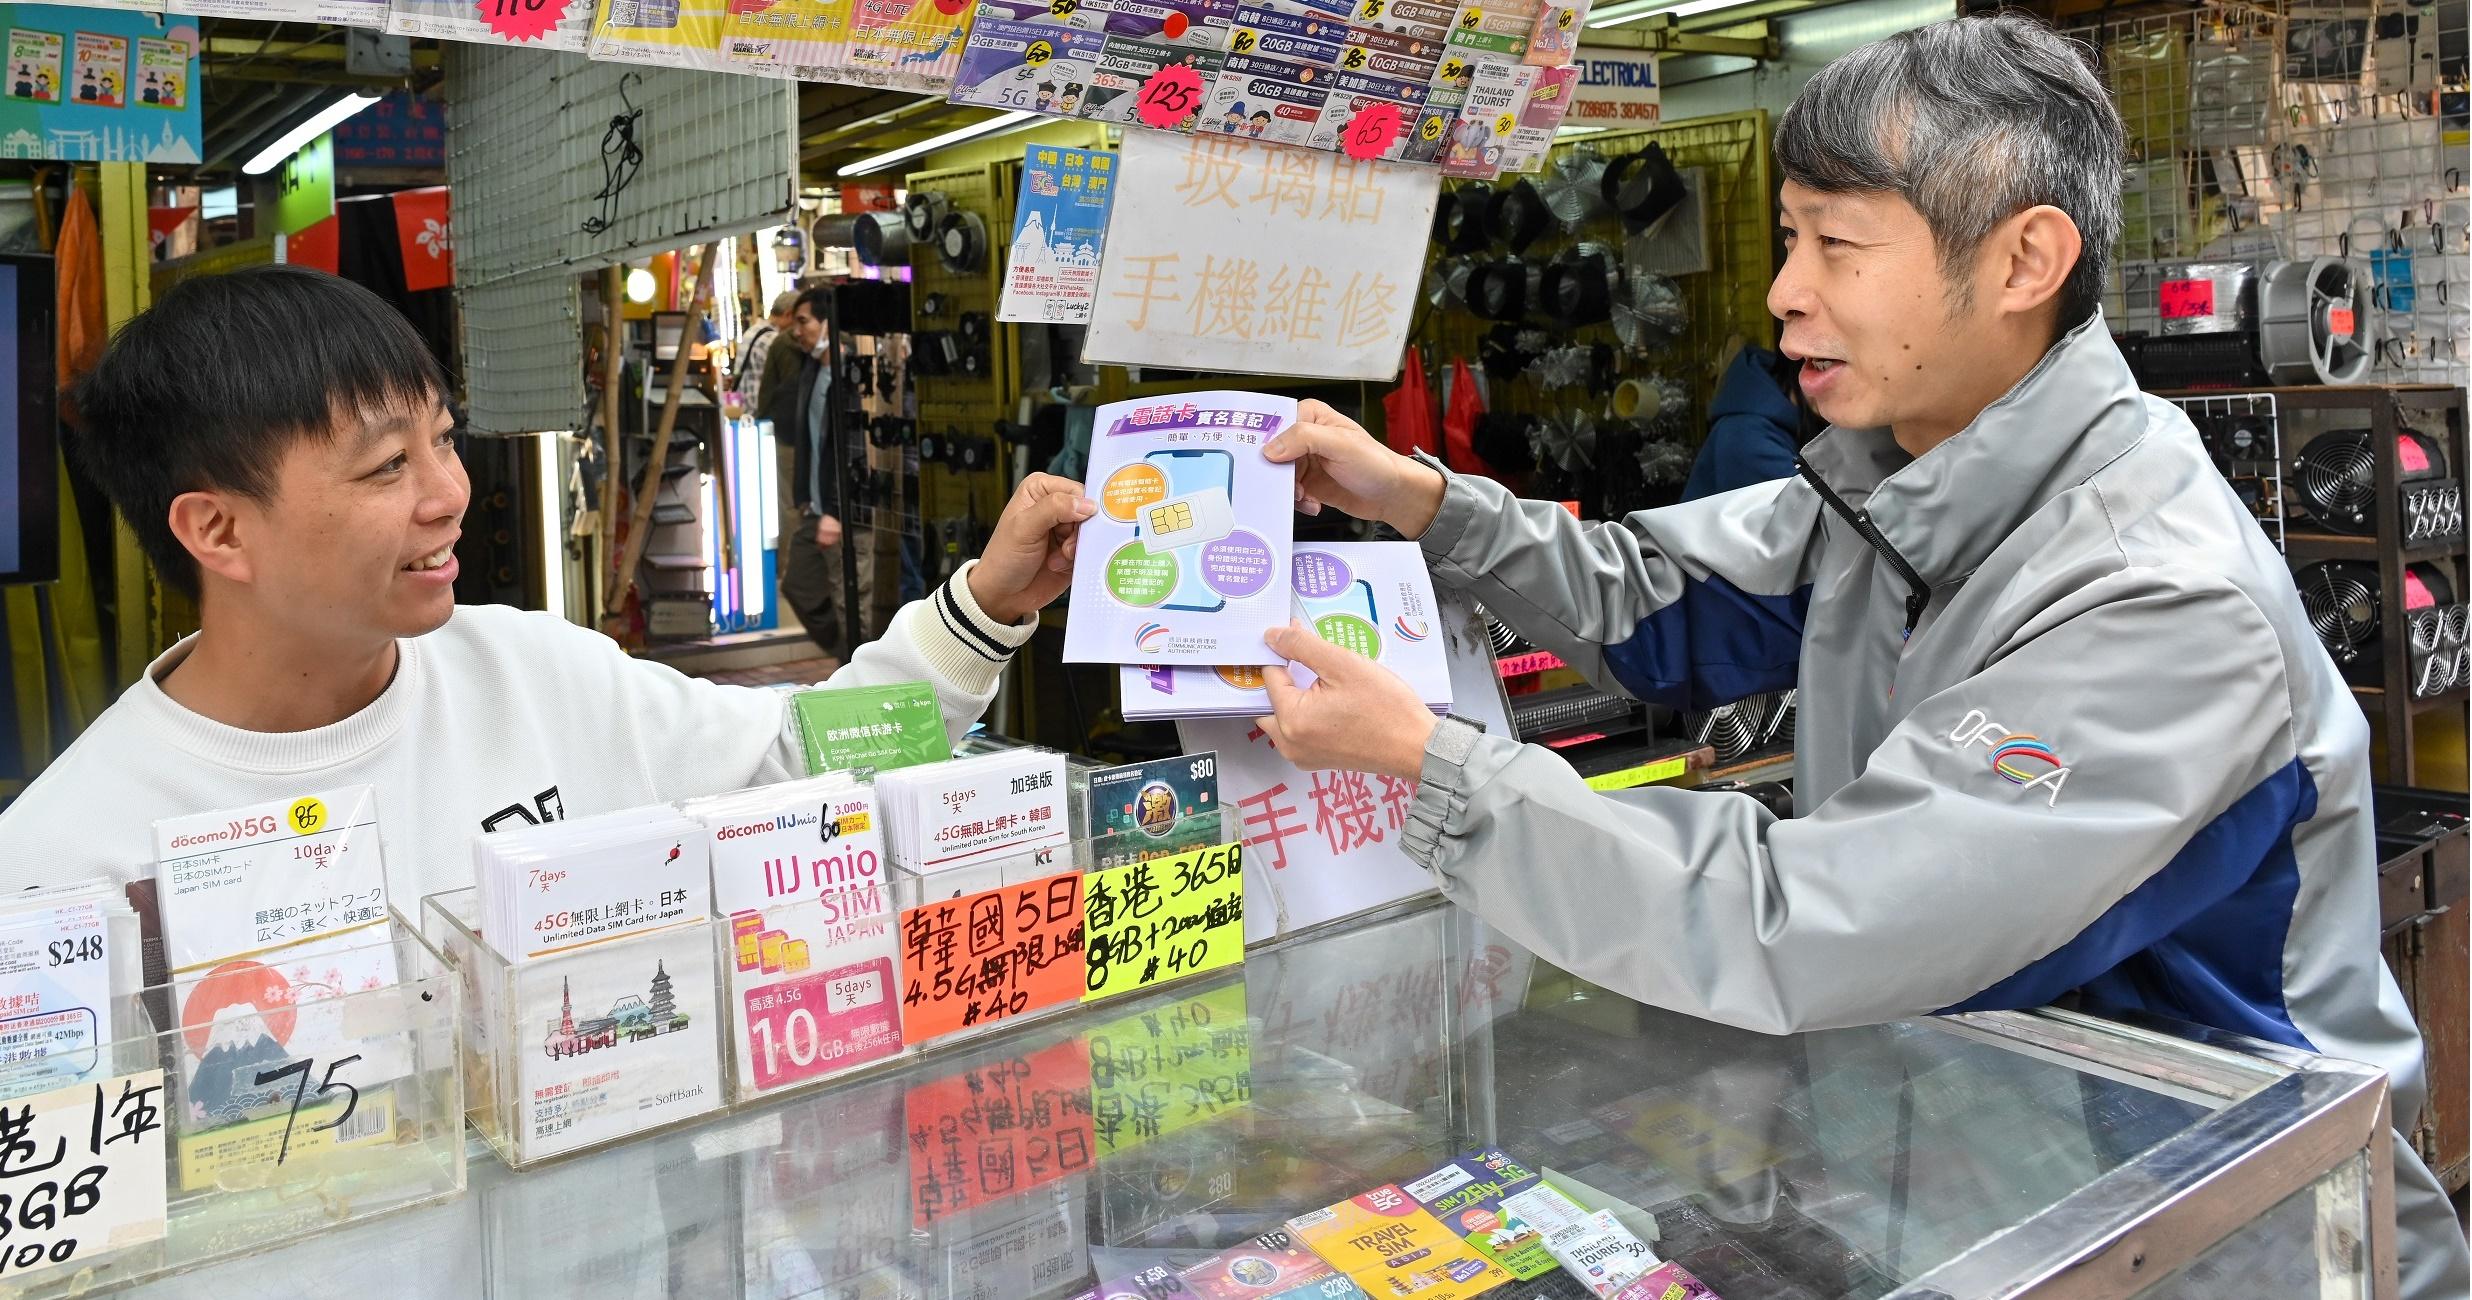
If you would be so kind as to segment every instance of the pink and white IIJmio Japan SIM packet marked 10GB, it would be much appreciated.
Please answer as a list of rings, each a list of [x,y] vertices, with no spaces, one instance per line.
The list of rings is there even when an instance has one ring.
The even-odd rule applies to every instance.
[[[742,1092],[892,1055],[892,890],[875,791],[848,774],[680,803],[712,833]]]

